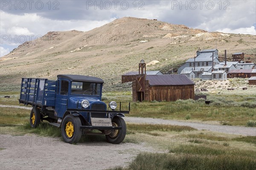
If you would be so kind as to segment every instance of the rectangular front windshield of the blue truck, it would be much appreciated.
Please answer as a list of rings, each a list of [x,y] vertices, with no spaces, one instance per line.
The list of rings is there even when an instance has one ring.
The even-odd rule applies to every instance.
[[[95,82],[72,82],[71,94],[100,95],[101,84]]]

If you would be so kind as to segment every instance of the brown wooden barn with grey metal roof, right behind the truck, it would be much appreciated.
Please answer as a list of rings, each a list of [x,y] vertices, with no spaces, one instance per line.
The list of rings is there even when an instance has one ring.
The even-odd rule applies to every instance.
[[[133,102],[194,99],[194,85],[195,83],[185,75],[140,74],[132,83]]]

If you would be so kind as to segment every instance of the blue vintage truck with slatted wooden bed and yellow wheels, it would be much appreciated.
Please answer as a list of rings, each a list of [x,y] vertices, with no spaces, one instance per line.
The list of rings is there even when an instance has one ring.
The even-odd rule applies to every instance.
[[[117,104],[102,102],[104,81],[97,77],[61,74],[57,80],[22,78],[19,102],[32,105],[31,127],[47,120],[61,127],[64,142],[77,143],[82,134],[103,134],[109,143],[119,144],[126,135],[124,113]],[[98,133],[95,133],[95,130]]]

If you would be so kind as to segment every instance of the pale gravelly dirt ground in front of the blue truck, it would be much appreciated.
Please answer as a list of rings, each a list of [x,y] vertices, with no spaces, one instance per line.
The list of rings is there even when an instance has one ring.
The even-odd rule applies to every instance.
[[[134,139],[136,140],[136,139]],[[157,152],[143,143],[76,145],[58,138],[0,135],[0,170],[104,170],[125,166],[140,152]]]

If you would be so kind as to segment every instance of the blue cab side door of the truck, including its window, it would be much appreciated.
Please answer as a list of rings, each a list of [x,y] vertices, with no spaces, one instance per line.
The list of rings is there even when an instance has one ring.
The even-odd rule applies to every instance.
[[[67,111],[67,102],[69,97],[69,79],[58,79],[58,91],[55,100],[55,116],[63,117],[64,113]]]

